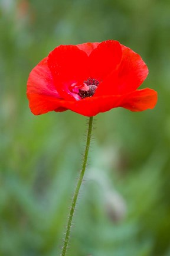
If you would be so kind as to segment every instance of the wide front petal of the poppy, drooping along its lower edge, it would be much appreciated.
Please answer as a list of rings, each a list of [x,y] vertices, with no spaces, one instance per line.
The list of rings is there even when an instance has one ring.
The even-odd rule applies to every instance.
[[[30,100],[30,108],[33,114],[69,109],[90,117],[116,107],[128,108],[131,111],[143,111],[153,108],[157,101],[157,93],[152,89],[146,88],[126,95],[89,97],[79,101],[65,101],[39,94],[28,94],[28,99]]]

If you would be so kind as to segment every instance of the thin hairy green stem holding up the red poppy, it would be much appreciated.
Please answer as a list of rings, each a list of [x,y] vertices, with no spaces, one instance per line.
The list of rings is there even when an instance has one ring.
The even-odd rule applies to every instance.
[[[72,201],[72,204],[71,204],[70,213],[69,213],[69,216],[68,216],[66,236],[65,236],[65,239],[64,239],[63,251],[61,253],[61,256],[66,255],[67,248],[68,248],[68,242],[69,242],[69,239],[70,239],[70,229],[71,229],[71,224],[72,224],[72,220],[73,220],[74,210],[75,210],[75,207],[76,207],[76,201],[77,201],[77,197],[79,195],[79,190],[80,190],[80,187],[81,187],[81,183],[83,181],[84,172],[85,172],[86,165],[87,165],[87,157],[88,157],[89,148],[90,148],[92,126],[93,126],[93,117],[90,117],[89,118],[89,129],[88,129],[88,133],[87,133],[86,149],[85,149],[84,158],[83,158],[83,166],[82,166],[82,169],[81,169],[81,172],[80,172],[80,177],[79,177],[79,180],[77,182],[76,190],[74,192],[73,201]]]

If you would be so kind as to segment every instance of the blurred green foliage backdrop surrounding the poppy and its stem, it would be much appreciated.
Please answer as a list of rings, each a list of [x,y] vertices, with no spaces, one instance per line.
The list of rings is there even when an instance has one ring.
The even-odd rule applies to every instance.
[[[0,1],[0,255],[60,255],[87,118],[34,116],[31,69],[60,44],[119,40],[148,65],[153,110],[95,117],[70,256],[170,255],[170,2]]]

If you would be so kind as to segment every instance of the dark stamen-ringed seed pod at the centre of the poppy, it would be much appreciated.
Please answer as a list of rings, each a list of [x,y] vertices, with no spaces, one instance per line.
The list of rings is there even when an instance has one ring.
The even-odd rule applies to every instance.
[[[97,86],[99,85],[99,81],[94,78],[88,78],[87,81],[84,81],[83,84],[84,88],[79,89],[78,95],[81,98],[92,97],[96,91]]]

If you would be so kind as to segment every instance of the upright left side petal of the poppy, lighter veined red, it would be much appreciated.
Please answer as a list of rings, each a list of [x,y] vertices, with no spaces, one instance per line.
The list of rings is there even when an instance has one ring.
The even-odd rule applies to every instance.
[[[47,66],[47,57],[32,69],[27,82],[27,94],[45,94],[60,98]]]

